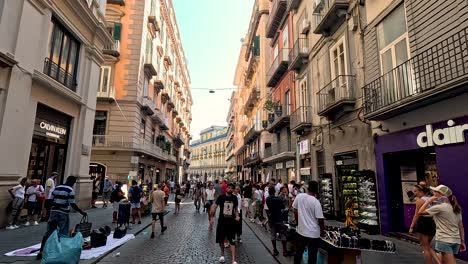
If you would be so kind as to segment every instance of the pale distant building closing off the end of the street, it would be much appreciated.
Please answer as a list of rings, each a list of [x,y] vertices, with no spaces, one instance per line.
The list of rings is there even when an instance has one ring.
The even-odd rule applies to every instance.
[[[227,135],[227,127],[211,126],[200,132],[200,139],[190,142],[190,180],[206,182],[224,179]]]

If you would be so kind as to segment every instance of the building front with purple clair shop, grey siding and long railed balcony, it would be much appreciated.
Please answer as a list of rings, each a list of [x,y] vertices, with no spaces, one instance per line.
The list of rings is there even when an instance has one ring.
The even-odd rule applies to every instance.
[[[373,128],[381,230],[404,233],[415,210],[407,191],[418,181],[445,184],[468,203],[468,3],[376,1],[366,14],[363,115]]]

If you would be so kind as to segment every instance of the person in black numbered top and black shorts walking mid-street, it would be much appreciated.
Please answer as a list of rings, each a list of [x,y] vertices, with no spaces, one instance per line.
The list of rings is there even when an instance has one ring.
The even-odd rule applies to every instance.
[[[231,259],[232,264],[237,264],[236,262],[236,224],[239,218],[239,211],[237,207],[239,206],[237,197],[232,194],[235,186],[234,184],[228,184],[226,194],[218,196],[216,203],[211,207],[211,223],[214,222],[214,215],[216,209],[219,206],[219,217],[218,225],[216,227],[216,243],[219,244],[221,248],[221,257],[219,258],[220,263],[225,263],[224,259],[224,241],[227,239],[231,245]]]

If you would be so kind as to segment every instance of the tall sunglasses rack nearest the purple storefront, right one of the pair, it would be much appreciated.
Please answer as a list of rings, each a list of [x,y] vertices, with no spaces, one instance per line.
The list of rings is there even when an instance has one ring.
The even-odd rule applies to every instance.
[[[377,186],[375,173],[363,170],[356,173],[359,183],[359,221],[358,226],[369,234],[379,233]]]

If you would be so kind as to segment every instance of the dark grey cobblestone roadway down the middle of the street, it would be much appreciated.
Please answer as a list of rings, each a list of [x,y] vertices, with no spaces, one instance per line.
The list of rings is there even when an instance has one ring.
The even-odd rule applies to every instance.
[[[164,234],[157,226],[156,237],[151,239],[148,228],[99,263],[218,263],[216,227],[208,230],[206,213],[195,212],[193,204],[187,203],[182,205],[180,214],[170,213],[164,220],[168,226]],[[245,224],[242,240],[238,246],[238,263],[278,263]],[[116,252],[120,252],[120,257],[114,256]],[[227,250],[225,257],[226,263],[231,263]]]

